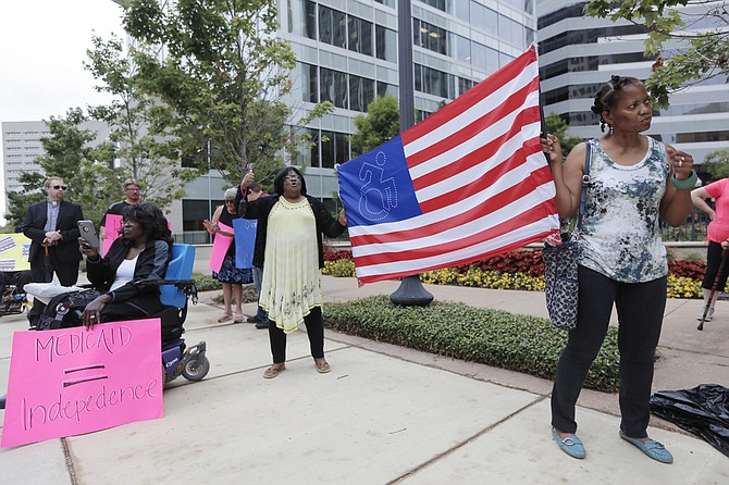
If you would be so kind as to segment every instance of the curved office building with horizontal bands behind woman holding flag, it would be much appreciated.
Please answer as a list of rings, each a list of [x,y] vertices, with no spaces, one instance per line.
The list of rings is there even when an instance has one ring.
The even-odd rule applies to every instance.
[[[539,0],[540,77],[544,111],[559,113],[570,134],[600,135],[600,119],[590,111],[600,87],[614,74],[640,79],[651,74],[654,58],[643,55],[645,32],[628,21],[613,22],[582,14],[585,2]],[[701,20],[702,12],[724,2],[681,8],[692,30],[718,28],[717,20]],[[726,25],[725,25],[726,28]],[[664,58],[685,45],[665,45]],[[674,145],[703,163],[715,150],[729,148],[729,85],[725,76],[706,79],[670,97],[670,108],[654,110],[647,135]],[[703,170],[699,170],[700,175]]]

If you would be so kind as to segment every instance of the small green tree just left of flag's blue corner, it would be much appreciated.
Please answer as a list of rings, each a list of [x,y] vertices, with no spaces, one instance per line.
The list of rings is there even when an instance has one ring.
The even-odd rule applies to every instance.
[[[358,114],[354,123],[357,132],[351,135],[351,151],[360,156],[400,134],[397,99],[393,95],[375,98],[367,107],[367,114]]]

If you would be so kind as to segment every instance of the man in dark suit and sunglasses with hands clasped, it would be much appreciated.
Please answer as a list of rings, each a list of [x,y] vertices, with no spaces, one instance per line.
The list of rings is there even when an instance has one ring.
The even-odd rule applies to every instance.
[[[23,221],[23,234],[30,239],[30,273],[36,283],[47,283],[53,273],[63,286],[78,281],[78,226],[84,219],[81,206],[66,202],[63,195],[67,188],[60,177],[50,177],[45,184],[48,200],[30,206]],[[46,257],[48,247],[48,257]]]

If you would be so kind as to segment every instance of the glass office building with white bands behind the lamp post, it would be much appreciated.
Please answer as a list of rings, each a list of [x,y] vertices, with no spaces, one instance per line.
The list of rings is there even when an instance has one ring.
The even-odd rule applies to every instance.
[[[307,188],[325,202],[334,166],[350,159],[354,117],[375,96],[398,95],[395,0],[280,0],[280,37],[292,46],[293,107],[331,101],[332,114],[309,126],[316,146],[296,161]],[[411,2],[415,108],[420,121],[443,102],[521,54],[534,41],[533,0]]]

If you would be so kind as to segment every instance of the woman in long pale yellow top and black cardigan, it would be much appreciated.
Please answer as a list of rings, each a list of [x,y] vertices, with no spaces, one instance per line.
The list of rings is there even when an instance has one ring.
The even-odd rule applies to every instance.
[[[307,327],[317,372],[330,372],[321,314],[322,234],[336,237],[344,233],[346,214],[342,210],[334,220],[321,201],[307,196],[306,181],[294,166],[275,176],[275,196],[249,201],[248,187],[255,181],[252,171],[246,174],[236,201],[244,217],[258,220],[254,265],[263,269],[259,303],[269,315],[273,356],[263,377],[273,378],[286,370],[286,335],[301,323]]]

